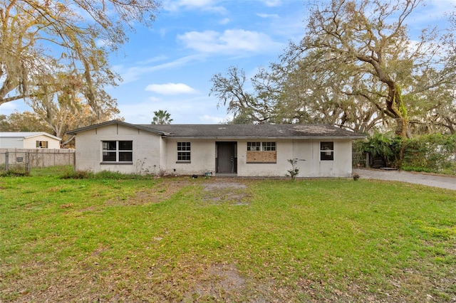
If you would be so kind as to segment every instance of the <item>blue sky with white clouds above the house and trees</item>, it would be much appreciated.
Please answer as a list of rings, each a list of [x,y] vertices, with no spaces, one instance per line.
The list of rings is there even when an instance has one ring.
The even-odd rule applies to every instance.
[[[136,26],[130,40],[110,56],[123,82],[108,92],[125,122],[147,124],[155,110],[173,124],[214,124],[229,116],[209,97],[210,79],[237,66],[252,76],[278,59],[289,41],[304,33],[301,0],[162,1],[152,28]],[[439,23],[456,0],[432,0],[408,20],[411,31]],[[0,113],[25,110],[19,100]]]

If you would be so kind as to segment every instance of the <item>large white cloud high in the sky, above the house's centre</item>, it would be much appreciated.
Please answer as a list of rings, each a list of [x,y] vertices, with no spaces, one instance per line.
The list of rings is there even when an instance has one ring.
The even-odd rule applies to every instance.
[[[177,38],[185,43],[187,48],[202,53],[262,53],[283,48],[281,43],[271,40],[265,33],[245,31],[243,29],[217,31],[190,31]]]

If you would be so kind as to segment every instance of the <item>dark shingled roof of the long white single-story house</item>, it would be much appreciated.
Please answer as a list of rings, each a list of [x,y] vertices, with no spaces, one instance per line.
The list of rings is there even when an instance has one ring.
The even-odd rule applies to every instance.
[[[249,138],[351,138],[363,139],[364,134],[324,124],[129,124],[122,121],[109,121],[75,129],[68,134],[85,132],[88,129],[109,124],[122,124],[162,134],[164,137],[189,139],[249,139]]]

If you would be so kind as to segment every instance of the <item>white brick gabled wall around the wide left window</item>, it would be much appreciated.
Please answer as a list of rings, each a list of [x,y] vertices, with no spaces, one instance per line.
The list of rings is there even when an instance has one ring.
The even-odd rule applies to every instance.
[[[133,141],[133,164],[101,164],[103,141]],[[112,124],[76,135],[76,169],[118,171],[123,174],[159,174],[162,169],[160,134],[134,127]]]

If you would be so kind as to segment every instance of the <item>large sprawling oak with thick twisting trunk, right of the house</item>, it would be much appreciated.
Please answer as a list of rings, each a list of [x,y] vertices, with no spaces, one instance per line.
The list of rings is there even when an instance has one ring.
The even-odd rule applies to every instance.
[[[421,0],[332,0],[310,6],[305,36],[301,43],[291,44],[284,58],[290,62],[306,57],[310,65],[338,65],[350,71],[358,83],[368,85],[349,81],[346,95],[366,98],[380,115],[396,123],[397,135],[410,137],[413,100],[435,87],[454,84],[455,78],[454,68],[442,68],[434,70],[437,77],[427,83],[417,81],[433,66],[445,64],[435,29],[423,29],[418,43],[408,37],[405,20],[422,4]]]

